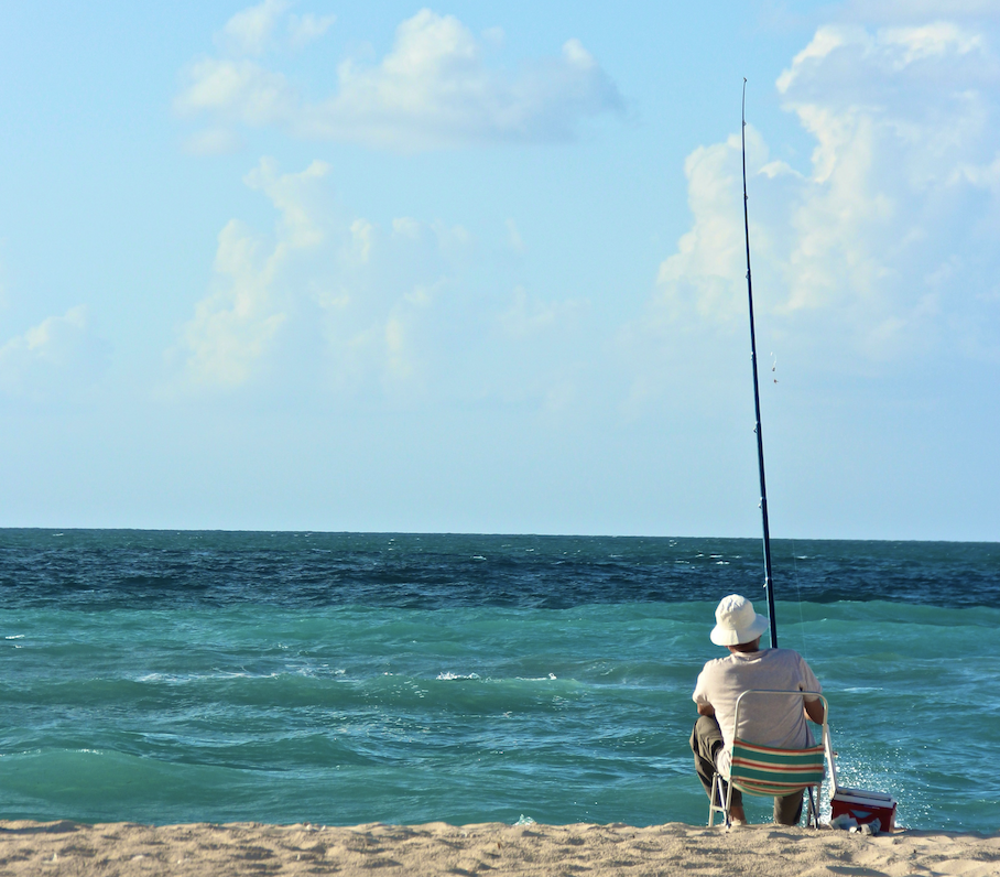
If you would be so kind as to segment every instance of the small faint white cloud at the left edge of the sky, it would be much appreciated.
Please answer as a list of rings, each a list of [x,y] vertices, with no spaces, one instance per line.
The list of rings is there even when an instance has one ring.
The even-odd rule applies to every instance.
[[[70,307],[0,347],[0,391],[44,398],[78,391],[106,367],[107,350],[87,325],[87,308]]]

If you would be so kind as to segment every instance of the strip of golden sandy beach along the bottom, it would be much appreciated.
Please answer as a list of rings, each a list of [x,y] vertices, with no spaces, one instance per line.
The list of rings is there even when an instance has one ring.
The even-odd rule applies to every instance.
[[[18,875],[1000,875],[1000,834],[750,825],[0,823]]]

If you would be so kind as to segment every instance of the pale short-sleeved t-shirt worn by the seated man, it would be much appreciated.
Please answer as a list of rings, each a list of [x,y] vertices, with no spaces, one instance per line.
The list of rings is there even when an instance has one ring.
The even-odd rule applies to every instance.
[[[805,659],[792,649],[762,649],[752,652],[730,652],[726,658],[709,661],[698,674],[692,700],[699,706],[710,704],[722,732],[725,749],[717,767],[729,776],[732,753],[732,727],[736,699],[750,689],[765,691],[809,691],[823,689]],[[803,749],[813,745],[803,714],[803,700],[815,697],[781,697],[749,695],[740,705],[739,736],[761,746],[781,749]]]

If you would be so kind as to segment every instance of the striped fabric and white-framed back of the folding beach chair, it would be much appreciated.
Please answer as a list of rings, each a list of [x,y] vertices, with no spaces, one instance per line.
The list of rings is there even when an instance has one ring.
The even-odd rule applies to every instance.
[[[805,692],[746,691],[737,699],[733,716],[737,728],[740,702],[746,695],[759,694],[805,696]],[[732,741],[732,762],[729,772],[733,788],[749,794],[783,797],[823,782],[825,744],[828,736],[825,718],[828,707],[826,699],[823,695],[819,695],[819,699],[824,708],[823,743],[805,749],[776,749],[737,737]]]

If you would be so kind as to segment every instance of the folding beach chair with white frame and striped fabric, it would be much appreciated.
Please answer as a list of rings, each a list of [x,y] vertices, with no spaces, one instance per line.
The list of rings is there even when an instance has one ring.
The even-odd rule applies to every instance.
[[[785,697],[802,695],[806,692],[787,691],[744,691],[737,697],[733,723],[740,729],[740,704],[747,695],[783,695]],[[826,697],[818,695],[823,702],[823,741],[807,749],[775,749],[760,746],[737,736],[732,741],[732,762],[728,782],[718,773],[711,780],[711,795],[708,805],[708,825],[715,823],[715,814],[721,813],[725,824],[730,824],[729,808],[732,790],[739,789],[746,794],[778,795],[784,798],[808,789],[809,803],[806,824],[819,827],[819,810],[814,788],[823,782],[824,757],[829,728],[826,715],[829,712]]]

